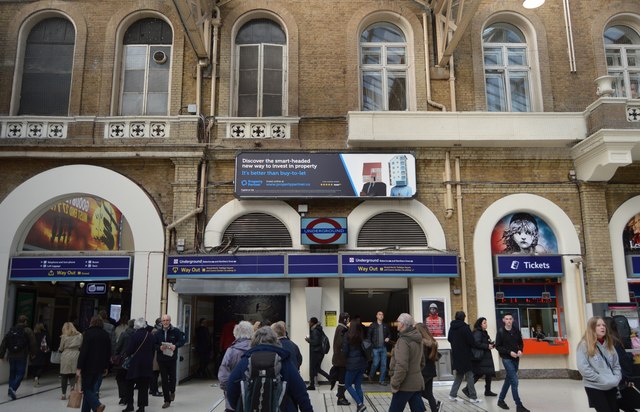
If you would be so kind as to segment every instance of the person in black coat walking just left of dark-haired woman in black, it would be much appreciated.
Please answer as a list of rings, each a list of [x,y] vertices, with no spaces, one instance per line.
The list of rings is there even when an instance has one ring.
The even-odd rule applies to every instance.
[[[470,401],[472,403],[480,403],[481,400],[478,399],[476,388],[473,384],[473,366],[471,364],[471,348],[475,347],[475,341],[471,328],[464,322],[466,317],[467,315],[464,312],[456,312],[454,320],[451,321],[451,326],[449,327],[447,339],[451,342],[452,367],[456,372],[453,386],[451,386],[451,391],[449,392],[449,400],[461,400],[458,398],[458,389],[460,389],[462,379],[465,378]]]

